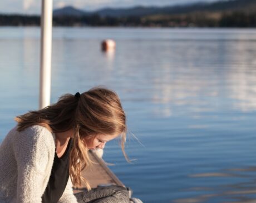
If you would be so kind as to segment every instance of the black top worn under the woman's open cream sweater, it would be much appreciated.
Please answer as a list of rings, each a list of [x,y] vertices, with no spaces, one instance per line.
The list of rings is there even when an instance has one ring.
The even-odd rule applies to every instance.
[[[59,158],[55,151],[50,180],[42,196],[43,203],[57,203],[60,200],[66,185],[70,172],[68,171],[68,155],[72,147],[72,138],[68,141],[65,153]]]

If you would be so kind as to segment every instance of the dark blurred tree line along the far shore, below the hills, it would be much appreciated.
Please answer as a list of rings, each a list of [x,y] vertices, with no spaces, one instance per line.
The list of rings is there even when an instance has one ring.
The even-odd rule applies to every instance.
[[[0,26],[40,26],[40,16],[0,14]],[[189,13],[145,17],[59,16],[53,26],[256,27],[256,12]]]

